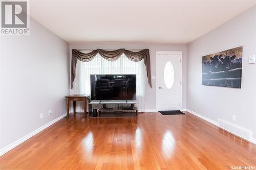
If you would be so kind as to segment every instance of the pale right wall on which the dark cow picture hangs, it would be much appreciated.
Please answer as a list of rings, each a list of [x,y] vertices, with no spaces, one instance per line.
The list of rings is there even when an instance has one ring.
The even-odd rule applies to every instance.
[[[202,56],[238,46],[243,46],[242,88],[202,86]],[[248,64],[248,56],[255,53],[256,7],[189,43],[187,109],[246,128],[256,138],[256,64]]]

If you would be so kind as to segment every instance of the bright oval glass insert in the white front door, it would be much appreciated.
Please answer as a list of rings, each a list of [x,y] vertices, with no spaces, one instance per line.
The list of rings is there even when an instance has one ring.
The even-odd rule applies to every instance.
[[[170,61],[164,67],[164,84],[168,89],[174,85],[174,66]]]

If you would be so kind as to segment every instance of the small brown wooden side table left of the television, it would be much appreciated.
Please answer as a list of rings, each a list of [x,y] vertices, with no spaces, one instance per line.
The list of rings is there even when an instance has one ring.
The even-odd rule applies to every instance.
[[[65,96],[65,98],[67,99],[67,118],[69,118],[69,102],[70,101],[73,101],[74,114],[76,113],[76,101],[82,101],[83,102],[83,113],[84,113],[84,116],[86,116],[87,99],[90,103],[90,95],[89,94],[85,94],[85,95],[72,94],[72,95]]]

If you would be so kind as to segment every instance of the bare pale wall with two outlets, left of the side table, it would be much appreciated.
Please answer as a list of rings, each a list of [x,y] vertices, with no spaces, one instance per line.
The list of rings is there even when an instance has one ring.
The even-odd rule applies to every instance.
[[[65,113],[67,94],[66,41],[32,18],[29,36],[1,36],[0,149]]]

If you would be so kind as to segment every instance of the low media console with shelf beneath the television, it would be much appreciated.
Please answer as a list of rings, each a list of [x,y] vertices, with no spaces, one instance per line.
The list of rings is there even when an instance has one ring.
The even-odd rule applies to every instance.
[[[113,109],[107,108],[107,104],[129,104],[131,107],[114,107]],[[115,113],[115,114],[123,114],[123,113],[136,113],[138,115],[138,109],[134,107],[135,104],[138,104],[136,101],[91,101],[89,105],[102,105],[103,107],[99,109],[99,115],[101,113]]]

